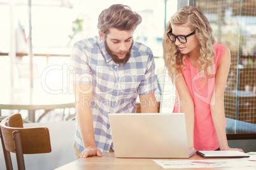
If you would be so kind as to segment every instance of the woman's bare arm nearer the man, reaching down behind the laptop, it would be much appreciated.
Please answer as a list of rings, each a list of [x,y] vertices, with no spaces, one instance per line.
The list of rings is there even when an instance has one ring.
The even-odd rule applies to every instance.
[[[194,101],[188,90],[187,84],[182,74],[175,77],[174,85],[180,97],[180,112],[185,113],[188,148],[194,148]],[[175,106],[178,107],[178,106]]]

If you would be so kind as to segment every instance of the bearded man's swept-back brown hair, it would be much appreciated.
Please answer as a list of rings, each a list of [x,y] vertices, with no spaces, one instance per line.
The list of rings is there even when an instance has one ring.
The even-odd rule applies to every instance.
[[[101,12],[98,18],[97,27],[106,36],[110,28],[119,30],[135,30],[141,23],[141,16],[123,4],[113,4],[110,8]]]

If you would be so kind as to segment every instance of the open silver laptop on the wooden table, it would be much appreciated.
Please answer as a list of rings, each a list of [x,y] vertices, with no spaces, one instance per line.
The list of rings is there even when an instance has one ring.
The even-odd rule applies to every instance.
[[[185,114],[109,114],[115,157],[188,158]]]

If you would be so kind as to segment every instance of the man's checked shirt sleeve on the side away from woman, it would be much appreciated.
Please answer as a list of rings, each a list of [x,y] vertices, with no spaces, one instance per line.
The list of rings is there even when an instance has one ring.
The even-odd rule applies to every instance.
[[[92,84],[92,70],[89,66],[89,58],[86,54],[86,47],[82,48],[80,42],[76,42],[70,55],[70,74],[73,84]]]

